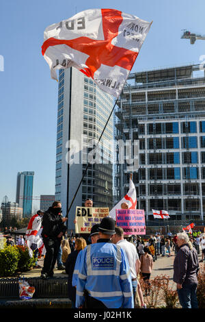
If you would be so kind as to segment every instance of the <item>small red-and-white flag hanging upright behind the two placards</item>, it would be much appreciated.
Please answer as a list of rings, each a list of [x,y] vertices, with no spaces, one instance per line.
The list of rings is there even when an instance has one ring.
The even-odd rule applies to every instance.
[[[116,209],[121,209],[122,203],[128,203],[129,208],[128,209],[136,209],[137,208],[137,195],[136,195],[136,189],[135,184],[133,184],[133,180],[130,179],[130,186],[128,193],[116,204],[116,206],[109,212],[109,217],[116,220]]]

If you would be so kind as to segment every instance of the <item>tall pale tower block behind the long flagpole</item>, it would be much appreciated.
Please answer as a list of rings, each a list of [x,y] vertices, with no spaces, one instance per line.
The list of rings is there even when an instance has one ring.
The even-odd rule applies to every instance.
[[[88,143],[98,140],[112,108],[113,97],[102,92],[92,79],[73,68],[59,71],[55,199],[61,201],[63,214],[81,182],[87,153],[91,156],[94,150],[94,145]],[[72,229],[75,208],[83,206],[85,199],[92,198],[94,206],[112,207],[112,140],[111,116],[100,140],[103,144],[98,146],[98,162],[92,162],[87,169],[70,209],[68,223]]]

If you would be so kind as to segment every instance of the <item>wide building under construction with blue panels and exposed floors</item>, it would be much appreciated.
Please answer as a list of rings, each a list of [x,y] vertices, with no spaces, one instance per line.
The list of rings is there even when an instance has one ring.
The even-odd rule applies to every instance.
[[[139,140],[133,173],[137,208],[171,220],[202,221],[205,212],[205,75],[202,65],[132,73],[115,111],[115,140]],[[115,197],[128,191],[127,164],[115,164]],[[136,156],[135,156],[136,157]]]

